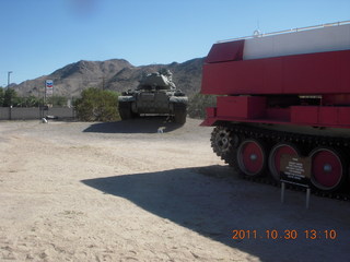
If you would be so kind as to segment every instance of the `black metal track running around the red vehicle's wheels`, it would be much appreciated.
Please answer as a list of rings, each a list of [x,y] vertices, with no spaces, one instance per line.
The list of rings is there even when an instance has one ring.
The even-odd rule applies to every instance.
[[[268,127],[267,127],[268,128]],[[318,146],[325,146],[325,147],[332,147],[337,148],[342,154],[350,155],[350,138],[334,138],[330,135],[314,135],[314,134],[305,134],[305,133],[294,133],[294,132],[288,132],[288,131],[279,131],[279,130],[271,130],[271,129],[265,129],[265,128],[257,128],[257,127],[250,127],[247,124],[228,124],[223,123],[221,126],[215,127],[213,130],[213,133],[218,133],[219,130],[225,130],[230,134],[235,134],[236,138],[238,138],[241,141],[244,139],[257,139],[260,141],[264,141],[265,146],[267,146],[268,150],[270,150],[273,145],[276,145],[279,142],[285,142],[285,143],[292,143],[296,145],[300,150],[301,156],[307,156],[314,148]],[[218,150],[218,145],[215,143],[215,139],[211,138],[211,146],[217,153],[218,156],[221,157],[226,164],[229,164],[231,167],[234,168],[235,171],[238,171],[238,174],[242,175],[242,177],[246,180],[258,182],[258,183],[265,183],[265,184],[271,184],[275,187],[280,187],[280,182],[276,181],[272,176],[269,175],[269,168],[266,168],[264,176],[258,177],[252,177],[244,175],[240,168],[237,167],[237,160],[234,156],[236,154],[238,144],[236,141],[235,143],[230,144],[230,152],[226,154],[222,154],[220,150]],[[346,181],[342,182],[343,184],[340,187],[340,189],[334,191],[334,192],[325,192],[323,190],[319,190],[315,187],[312,187],[312,193],[314,195],[330,198],[330,199],[338,199],[338,200],[350,200],[350,190],[349,190],[349,168],[347,168],[346,171]],[[303,191],[305,189],[287,184],[288,189],[294,190],[294,191]]]

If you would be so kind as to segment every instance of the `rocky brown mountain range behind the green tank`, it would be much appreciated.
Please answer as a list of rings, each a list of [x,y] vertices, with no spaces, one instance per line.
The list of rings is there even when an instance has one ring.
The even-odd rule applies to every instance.
[[[20,96],[44,96],[46,80],[54,81],[54,95],[77,97],[88,87],[98,87],[122,92],[137,87],[143,73],[168,69],[173,73],[176,86],[187,95],[200,90],[203,58],[183,63],[150,64],[133,67],[127,60],[112,59],[106,61],[81,60],[56,70],[49,75],[27,80],[13,86]]]

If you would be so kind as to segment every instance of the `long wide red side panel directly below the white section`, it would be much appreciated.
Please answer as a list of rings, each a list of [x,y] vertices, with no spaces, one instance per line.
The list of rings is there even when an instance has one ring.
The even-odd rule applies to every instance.
[[[350,50],[207,63],[202,93],[350,94]]]

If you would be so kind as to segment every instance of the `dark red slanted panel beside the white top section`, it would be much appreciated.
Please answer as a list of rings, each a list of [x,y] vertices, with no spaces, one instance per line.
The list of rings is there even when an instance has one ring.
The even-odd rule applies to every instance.
[[[243,58],[244,40],[214,44],[206,59],[207,63],[237,61]]]

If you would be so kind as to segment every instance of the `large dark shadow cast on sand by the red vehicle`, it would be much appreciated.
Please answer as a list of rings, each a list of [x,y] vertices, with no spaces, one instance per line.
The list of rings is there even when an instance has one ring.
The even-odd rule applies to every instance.
[[[229,171],[225,166],[208,166],[82,182],[104,193],[125,198],[205,237],[256,255],[260,261],[331,261],[332,258],[347,261],[350,231],[349,228],[339,229],[343,224],[334,202],[329,207],[323,207],[323,203],[317,205],[312,200],[316,211],[306,211],[302,192],[287,192],[289,203],[282,205],[279,188],[228,177],[224,174]],[[305,229],[337,227],[348,236],[339,236],[336,240],[312,240],[304,235]],[[232,239],[234,229],[257,230],[257,236]],[[287,229],[296,230],[298,239],[284,239]],[[267,239],[266,230],[278,230],[279,237]]]

